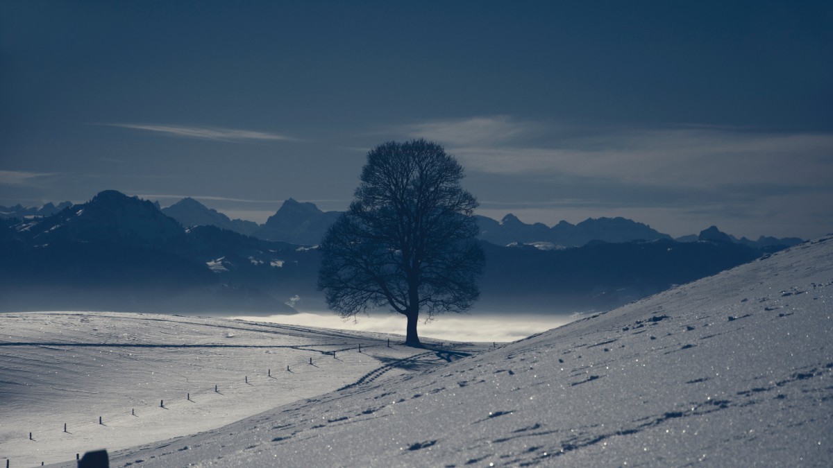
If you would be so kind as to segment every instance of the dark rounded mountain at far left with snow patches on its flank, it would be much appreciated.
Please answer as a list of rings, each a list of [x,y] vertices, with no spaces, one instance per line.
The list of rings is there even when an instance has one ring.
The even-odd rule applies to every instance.
[[[238,263],[246,271],[252,262],[247,257],[255,258],[252,242],[260,242],[257,247],[268,256],[284,250],[292,255],[295,246],[216,227],[207,229],[220,232],[214,236],[204,229],[186,231],[154,203],[120,192],[101,192],[51,217],[0,228],[3,311],[292,312],[283,301],[228,281],[210,266],[224,256],[242,256],[246,261]],[[295,294],[287,291],[287,298]]]

